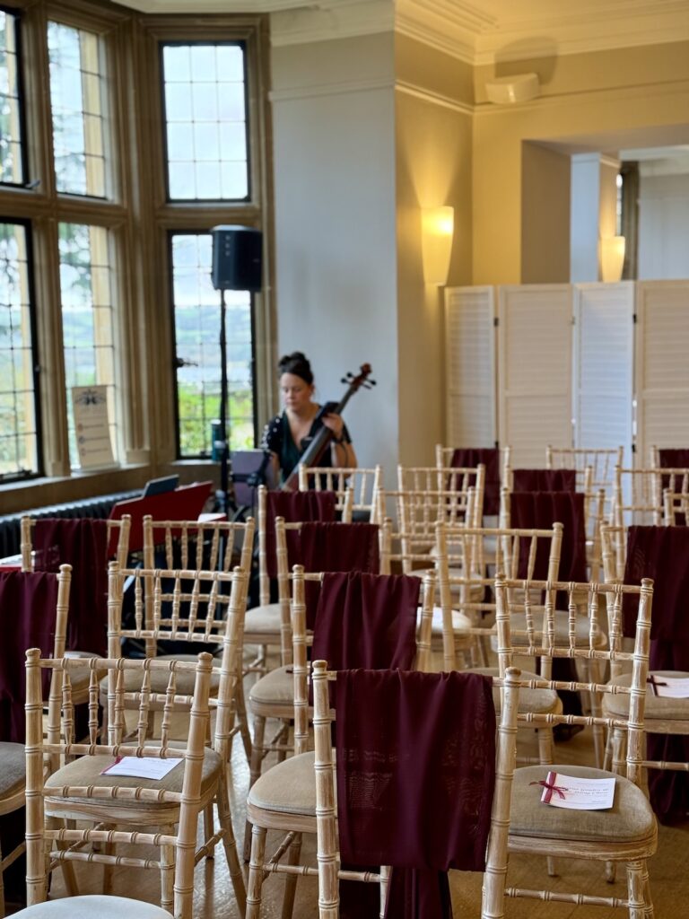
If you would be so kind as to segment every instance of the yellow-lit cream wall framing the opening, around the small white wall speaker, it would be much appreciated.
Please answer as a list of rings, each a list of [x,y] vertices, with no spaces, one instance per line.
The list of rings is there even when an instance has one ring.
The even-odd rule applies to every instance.
[[[474,119],[473,283],[521,281],[522,156],[525,142],[558,142],[570,152],[616,149],[625,136],[652,143],[687,130],[689,42],[510,64],[534,70],[543,95],[514,107],[481,105]],[[507,65],[476,69],[485,80]],[[640,145],[640,144],[638,144]]]

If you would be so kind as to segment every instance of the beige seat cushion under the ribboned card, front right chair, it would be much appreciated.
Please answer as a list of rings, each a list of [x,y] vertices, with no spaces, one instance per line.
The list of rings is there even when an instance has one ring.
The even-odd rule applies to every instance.
[[[514,771],[511,836],[538,836],[585,842],[632,842],[655,832],[649,800],[627,778],[615,776],[615,798],[607,811],[570,811],[541,802],[543,788],[531,782],[545,780],[548,771],[581,778],[611,778],[613,773],[588,766],[525,766]]]

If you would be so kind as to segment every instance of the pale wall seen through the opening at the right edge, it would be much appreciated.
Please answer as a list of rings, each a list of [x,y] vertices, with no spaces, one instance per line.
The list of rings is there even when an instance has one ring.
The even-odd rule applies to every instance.
[[[689,278],[689,175],[644,175],[638,196],[638,278]]]

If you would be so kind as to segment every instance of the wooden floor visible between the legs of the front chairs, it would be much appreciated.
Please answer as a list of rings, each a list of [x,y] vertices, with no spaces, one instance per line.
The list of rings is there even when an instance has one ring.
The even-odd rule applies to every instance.
[[[536,752],[533,735],[525,735],[522,740],[526,746],[533,744]],[[556,760],[593,765],[593,744],[589,732],[582,732],[569,743],[558,744]],[[248,777],[243,748],[239,740],[236,740],[232,751],[232,816],[240,845]],[[270,836],[268,841],[270,843]],[[305,840],[302,855],[311,858],[315,864],[313,841]],[[555,891],[585,891],[594,895],[625,896],[624,878],[618,878],[613,886],[606,884],[602,864],[560,860],[557,868],[559,877],[552,879],[552,889]],[[99,891],[98,869],[76,865],[76,871],[80,892]],[[480,875],[455,871],[451,872],[450,882],[455,916],[479,916]],[[511,857],[508,885],[539,888],[547,884],[546,866],[542,859]],[[269,919],[275,919],[280,915],[282,885],[283,879],[277,876],[271,876],[265,881],[262,914]],[[221,849],[214,860],[204,861],[198,865],[195,887],[195,919],[234,919],[239,916]],[[656,919],[689,917],[689,822],[675,827],[660,827],[659,851],[650,863],[650,888]],[[120,868],[115,874],[113,892],[157,902],[157,872]],[[59,872],[55,876],[51,896],[64,896]],[[313,919],[317,916],[317,896],[316,880],[300,878],[294,919]],[[615,916],[624,916],[626,912],[620,909],[574,906],[571,903],[510,900],[507,902],[506,915],[511,919],[568,919],[570,916],[576,916],[577,919],[612,919]]]

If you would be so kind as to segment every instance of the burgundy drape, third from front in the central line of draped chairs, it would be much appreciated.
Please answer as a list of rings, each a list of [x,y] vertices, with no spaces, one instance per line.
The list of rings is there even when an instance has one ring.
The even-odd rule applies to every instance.
[[[378,524],[307,522],[299,529],[299,540],[299,562],[307,572],[380,570]],[[307,581],[304,586],[306,625],[312,629],[321,585]]]

